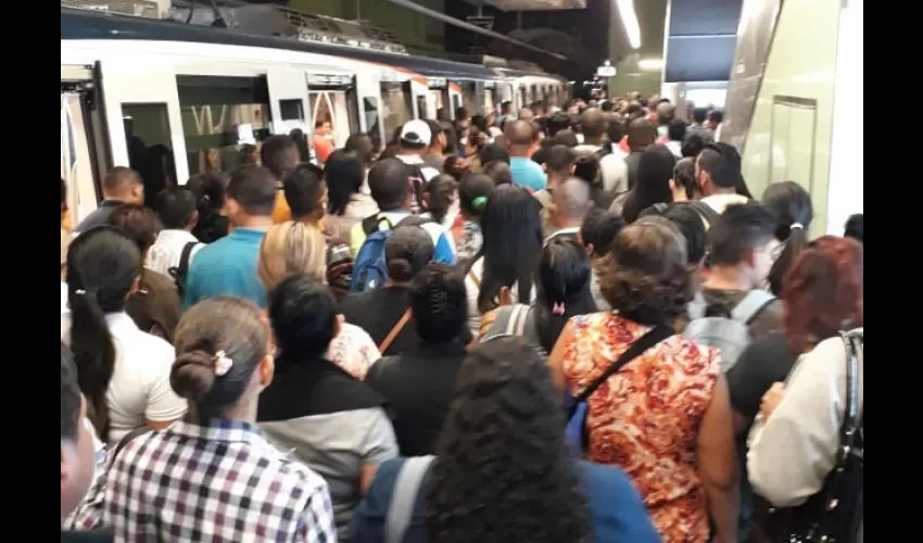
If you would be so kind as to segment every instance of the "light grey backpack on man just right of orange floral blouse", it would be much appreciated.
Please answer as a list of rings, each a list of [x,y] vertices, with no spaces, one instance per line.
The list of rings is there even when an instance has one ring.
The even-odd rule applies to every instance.
[[[731,318],[707,317],[706,303],[696,296],[690,304],[691,321],[683,332],[697,342],[718,348],[721,352],[721,371],[728,371],[750,342],[749,325],[775,296],[764,290],[751,290],[731,310]]]

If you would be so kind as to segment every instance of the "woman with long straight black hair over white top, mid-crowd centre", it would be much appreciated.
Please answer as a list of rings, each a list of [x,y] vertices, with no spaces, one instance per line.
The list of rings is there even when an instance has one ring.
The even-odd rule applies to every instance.
[[[542,254],[539,202],[522,187],[501,185],[481,214],[483,245],[463,269],[468,290],[468,327],[481,327],[481,315],[535,295],[532,274]]]

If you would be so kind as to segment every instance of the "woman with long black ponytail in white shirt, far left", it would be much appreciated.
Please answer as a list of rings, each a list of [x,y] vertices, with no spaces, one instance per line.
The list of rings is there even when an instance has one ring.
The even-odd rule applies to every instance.
[[[144,425],[166,428],[186,413],[169,386],[173,346],[139,330],[124,311],[140,273],[138,245],[116,228],[88,230],[67,252],[61,341],[74,353],[88,416],[109,444]]]

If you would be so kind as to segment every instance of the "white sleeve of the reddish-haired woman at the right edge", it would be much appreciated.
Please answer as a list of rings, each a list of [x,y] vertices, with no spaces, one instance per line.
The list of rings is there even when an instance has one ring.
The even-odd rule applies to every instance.
[[[833,469],[846,397],[846,349],[839,337],[801,357],[779,406],[756,428],[747,453],[754,490],[777,507],[817,494]]]

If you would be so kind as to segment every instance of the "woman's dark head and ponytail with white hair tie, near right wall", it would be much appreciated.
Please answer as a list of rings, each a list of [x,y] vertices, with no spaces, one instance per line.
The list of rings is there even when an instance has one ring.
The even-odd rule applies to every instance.
[[[814,218],[811,195],[795,181],[773,182],[762,193],[762,205],[775,218],[773,253],[775,262],[769,270],[769,290],[782,294],[782,279],[808,245],[808,229]]]

